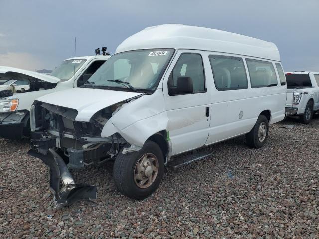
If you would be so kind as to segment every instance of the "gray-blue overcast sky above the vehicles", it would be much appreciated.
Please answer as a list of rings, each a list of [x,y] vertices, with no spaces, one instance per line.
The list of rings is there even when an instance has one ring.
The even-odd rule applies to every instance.
[[[319,71],[319,0],[1,0],[0,65],[53,69],[65,58],[114,53],[145,27],[179,23],[274,42],[285,71]]]

